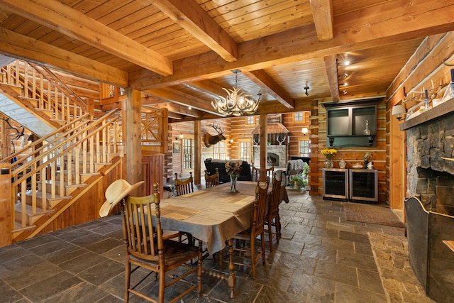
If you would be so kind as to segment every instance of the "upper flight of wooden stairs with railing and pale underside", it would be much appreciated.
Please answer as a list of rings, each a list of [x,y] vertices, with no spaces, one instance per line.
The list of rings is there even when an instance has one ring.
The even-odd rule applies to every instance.
[[[46,67],[16,60],[0,70],[0,111],[42,137],[86,114],[87,104]]]

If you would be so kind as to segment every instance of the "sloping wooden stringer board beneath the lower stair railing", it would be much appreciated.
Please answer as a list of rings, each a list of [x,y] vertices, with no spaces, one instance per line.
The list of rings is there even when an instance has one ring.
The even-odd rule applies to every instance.
[[[47,214],[44,214],[40,219],[35,221],[33,226],[13,231],[13,242],[26,240],[28,238],[33,238],[34,236],[37,236],[41,233],[52,231],[52,228],[50,228],[52,222],[59,219],[60,216],[62,216],[62,214],[65,211],[70,209],[71,206],[77,203],[79,199],[84,199],[82,201],[89,201],[91,204],[95,203],[96,206],[94,208],[99,210],[101,204],[104,203],[105,200],[104,192],[106,190],[106,187],[109,186],[111,180],[121,179],[122,167],[123,157],[119,155],[114,157],[111,160],[111,165],[106,165],[102,167],[101,170],[99,170],[99,175],[94,175],[86,180],[85,183],[87,184],[87,186],[74,190],[74,192],[72,192],[72,199],[62,200],[62,202],[60,202],[59,204],[55,205],[54,208],[52,208],[53,212],[48,212]],[[101,190],[102,194],[99,193],[98,199],[96,201],[92,201],[93,194],[90,192],[90,189],[94,189],[95,187],[97,187],[96,189],[98,191]],[[88,216],[88,219],[85,221],[90,221],[98,218],[99,213],[98,211],[96,211],[96,213],[92,214],[92,216]],[[79,223],[84,222],[77,222],[77,224]],[[74,224],[67,224],[67,226],[65,226],[64,224],[61,227],[64,228],[72,225]],[[57,229],[60,228],[55,228],[55,230]]]

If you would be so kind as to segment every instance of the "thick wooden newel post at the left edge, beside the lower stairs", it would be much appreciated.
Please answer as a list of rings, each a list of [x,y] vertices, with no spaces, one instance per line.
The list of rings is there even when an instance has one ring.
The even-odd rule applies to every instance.
[[[0,247],[13,243],[11,163],[0,162]]]

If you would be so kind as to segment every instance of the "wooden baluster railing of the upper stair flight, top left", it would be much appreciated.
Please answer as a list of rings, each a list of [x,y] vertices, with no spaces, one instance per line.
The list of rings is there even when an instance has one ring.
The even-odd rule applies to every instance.
[[[21,87],[21,97],[33,104],[37,109],[51,111],[51,120],[71,121],[87,113],[87,104],[60,84],[60,80],[50,70],[39,70],[23,60],[1,68],[3,82]],[[53,76],[53,77],[52,77]]]

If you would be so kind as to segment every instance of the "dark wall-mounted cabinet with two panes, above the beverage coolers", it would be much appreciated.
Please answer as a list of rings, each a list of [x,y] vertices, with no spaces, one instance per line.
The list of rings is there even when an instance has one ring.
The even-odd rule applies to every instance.
[[[328,147],[375,147],[382,99],[324,103]]]

